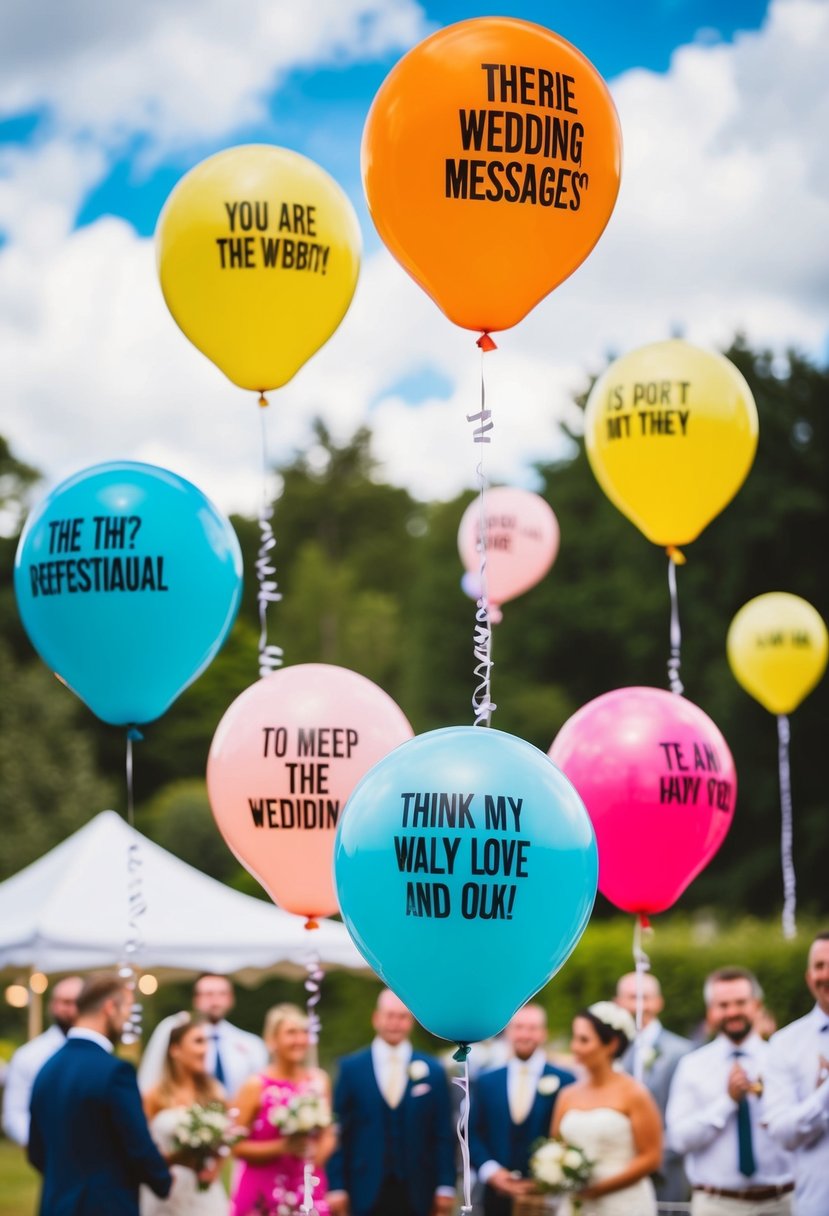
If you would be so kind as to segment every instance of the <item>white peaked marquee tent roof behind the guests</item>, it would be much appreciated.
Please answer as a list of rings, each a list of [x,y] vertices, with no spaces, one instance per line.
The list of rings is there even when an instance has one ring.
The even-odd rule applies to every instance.
[[[169,979],[216,972],[249,984],[265,975],[301,976],[316,951],[325,968],[370,974],[344,925],[320,921],[308,930],[301,917],[218,883],[114,811],[101,811],[0,883],[0,972],[49,975],[118,966],[135,934],[129,889],[143,905],[132,918],[141,970]]]

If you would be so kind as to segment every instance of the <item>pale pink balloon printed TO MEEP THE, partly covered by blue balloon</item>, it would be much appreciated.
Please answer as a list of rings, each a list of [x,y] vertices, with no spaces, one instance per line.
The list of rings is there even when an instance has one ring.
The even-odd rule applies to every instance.
[[[207,784],[232,852],[288,912],[338,911],[337,824],[360,778],[412,728],[356,671],[305,663],[265,676],[216,727]]]

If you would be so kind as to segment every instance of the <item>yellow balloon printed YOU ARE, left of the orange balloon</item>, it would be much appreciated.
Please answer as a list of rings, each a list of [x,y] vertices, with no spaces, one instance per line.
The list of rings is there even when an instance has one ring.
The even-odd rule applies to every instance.
[[[286,384],[345,316],[360,225],[314,161],[264,143],[202,161],[175,186],[156,231],[167,305],[235,384]]]

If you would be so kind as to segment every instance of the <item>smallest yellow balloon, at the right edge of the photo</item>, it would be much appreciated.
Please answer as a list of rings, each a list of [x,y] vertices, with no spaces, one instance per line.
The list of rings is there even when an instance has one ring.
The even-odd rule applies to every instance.
[[[829,636],[807,599],[769,591],[740,608],[726,647],[738,683],[769,714],[790,714],[825,671]]]

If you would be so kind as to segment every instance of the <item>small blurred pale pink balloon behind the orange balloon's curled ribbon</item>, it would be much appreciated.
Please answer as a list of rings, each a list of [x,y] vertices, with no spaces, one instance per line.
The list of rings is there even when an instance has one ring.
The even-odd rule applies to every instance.
[[[498,486],[484,495],[486,537],[486,593],[491,603],[514,599],[540,582],[558,553],[559,530],[553,508],[530,490]],[[480,500],[463,512],[458,551],[469,574],[480,572],[478,540]]]

